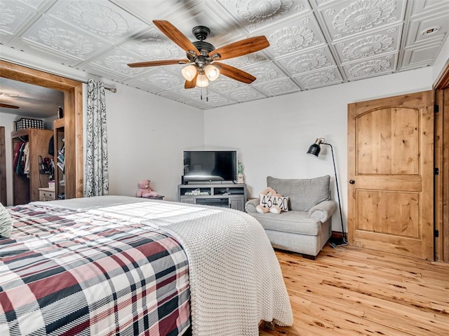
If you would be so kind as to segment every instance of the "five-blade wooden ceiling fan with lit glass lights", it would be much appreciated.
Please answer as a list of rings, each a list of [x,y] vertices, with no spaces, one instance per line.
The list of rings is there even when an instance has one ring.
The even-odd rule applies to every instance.
[[[269,46],[269,42],[265,36],[255,36],[215,49],[212,44],[204,41],[210,34],[208,27],[194,27],[192,33],[199,41],[191,42],[170,22],[166,20],[153,20],[153,23],[170,40],[185,50],[187,59],[138,62],[130,63],[128,66],[136,68],[170,64],[189,64],[181,70],[182,76],[186,80],[184,85],[186,89],[191,89],[196,86],[206,87],[209,85],[209,81],[217,79],[220,73],[223,76],[239,80],[242,83],[253,83],[256,78],[250,73],[237,69],[234,66],[217,62],[217,60],[247,55]]]

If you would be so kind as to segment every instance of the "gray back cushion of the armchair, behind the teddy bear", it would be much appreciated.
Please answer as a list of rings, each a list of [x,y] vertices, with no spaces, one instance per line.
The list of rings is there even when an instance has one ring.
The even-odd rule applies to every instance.
[[[276,179],[267,176],[267,186],[290,197],[290,210],[309,211],[311,207],[330,200],[330,176],[315,179]]]

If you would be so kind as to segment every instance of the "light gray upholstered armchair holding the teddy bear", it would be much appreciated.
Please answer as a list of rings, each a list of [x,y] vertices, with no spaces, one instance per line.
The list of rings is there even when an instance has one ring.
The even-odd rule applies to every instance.
[[[248,214],[262,224],[274,248],[315,258],[326,244],[332,228],[330,218],[337,202],[330,200],[330,176],[316,179],[275,179],[267,176],[267,186],[289,197],[289,211],[260,214],[259,199],[246,202]]]

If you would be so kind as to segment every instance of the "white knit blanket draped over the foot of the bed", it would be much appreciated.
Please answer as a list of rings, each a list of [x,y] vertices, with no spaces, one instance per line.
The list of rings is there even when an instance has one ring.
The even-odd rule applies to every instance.
[[[293,324],[279,262],[248,214],[159,201],[89,211],[163,228],[180,241],[189,258],[194,336],[256,336],[261,320]]]

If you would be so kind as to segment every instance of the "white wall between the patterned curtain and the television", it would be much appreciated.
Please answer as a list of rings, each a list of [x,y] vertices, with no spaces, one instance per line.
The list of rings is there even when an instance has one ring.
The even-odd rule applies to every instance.
[[[202,146],[203,111],[114,83],[106,91],[109,194],[134,196],[149,179],[164,200],[176,200],[182,151]]]

